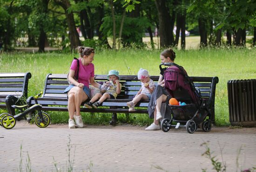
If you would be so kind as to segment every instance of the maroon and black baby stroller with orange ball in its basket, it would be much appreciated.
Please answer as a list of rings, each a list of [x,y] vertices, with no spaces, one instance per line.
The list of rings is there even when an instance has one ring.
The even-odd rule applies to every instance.
[[[201,98],[200,92],[196,90],[187,72],[182,66],[175,63],[162,63],[159,66],[160,70],[163,70],[162,66],[170,66],[163,74],[165,89],[172,98],[186,103],[183,106],[168,105],[172,115],[171,119],[162,119],[162,131],[168,132],[172,126],[175,126],[175,128],[182,126],[186,128],[187,132],[194,133],[198,126],[202,124],[202,130],[209,132],[212,127],[209,106],[206,100]],[[206,117],[209,118],[206,119]]]

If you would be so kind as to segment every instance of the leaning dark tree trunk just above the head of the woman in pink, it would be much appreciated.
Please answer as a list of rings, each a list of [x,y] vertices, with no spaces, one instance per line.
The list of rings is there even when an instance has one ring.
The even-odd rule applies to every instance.
[[[73,13],[67,13],[67,8],[70,7],[70,3],[68,0],[55,0],[60,6],[64,9],[67,25],[68,25],[68,38],[70,40],[70,49],[73,51],[77,46],[81,46],[81,42],[79,40],[79,35],[76,31],[75,23],[74,23],[74,15]]]

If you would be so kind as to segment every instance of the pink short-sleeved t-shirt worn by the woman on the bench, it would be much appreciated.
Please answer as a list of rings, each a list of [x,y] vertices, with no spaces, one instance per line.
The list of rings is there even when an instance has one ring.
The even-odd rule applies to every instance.
[[[83,83],[85,86],[89,88],[89,79],[90,77],[94,77],[94,64],[89,63],[88,66],[82,65],[81,58],[79,60],[79,74],[78,74],[78,82]],[[70,66],[71,70],[74,70],[74,76],[76,76],[77,70],[77,60],[73,60]]]

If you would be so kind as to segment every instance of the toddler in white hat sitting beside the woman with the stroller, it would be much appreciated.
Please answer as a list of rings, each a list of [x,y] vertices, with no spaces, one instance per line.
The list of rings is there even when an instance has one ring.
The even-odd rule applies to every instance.
[[[155,89],[155,83],[152,79],[149,78],[148,71],[146,69],[140,69],[138,72],[138,79],[141,81],[141,89],[135,95],[132,101],[127,102],[127,106],[129,107],[129,112],[135,111],[135,105],[140,100],[148,100],[151,97]]]

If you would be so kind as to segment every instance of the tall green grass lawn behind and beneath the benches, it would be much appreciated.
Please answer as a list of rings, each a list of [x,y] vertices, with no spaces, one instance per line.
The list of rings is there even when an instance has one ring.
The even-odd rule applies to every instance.
[[[159,75],[159,50],[103,50],[94,57],[95,74],[107,74],[109,70],[120,75],[134,74],[142,67],[150,75]],[[183,66],[189,76],[217,76],[216,125],[229,125],[227,81],[230,79],[256,79],[256,49],[202,49],[176,50],[175,63]],[[29,96],[43,90],[48,73],[67,73],[78,54],[65,53],[3,53],[0,54],[0,72],[31,72]],[[65,115],[60,115],[61,113]],[[53,123],[67,123],[67,112],[50,112]],[[107,124],[111,115],[82,114],[86,124]],[[97,120],[94,120],[97,119]],[[146,125],[152,122],[145,114],[133,114],[129,118],[118,114],[121,122]]]

